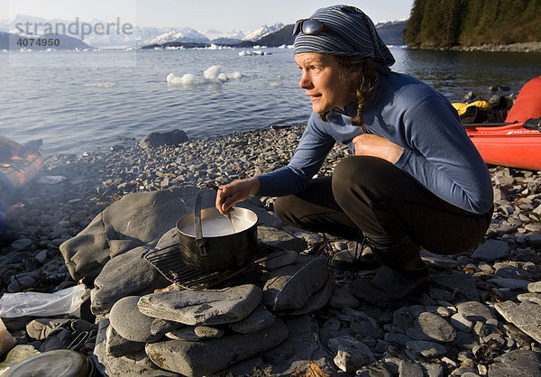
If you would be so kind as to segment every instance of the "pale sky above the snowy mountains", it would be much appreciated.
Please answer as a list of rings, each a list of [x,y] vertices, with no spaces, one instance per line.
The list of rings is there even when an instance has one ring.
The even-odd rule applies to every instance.
[[[409,17],[414,0],[0,0],[0,20],[16,14],[81,21],[90,18],[137,26],[255,30],[261,25],[294,23],[327,5],[354,5],[374,23]]]

